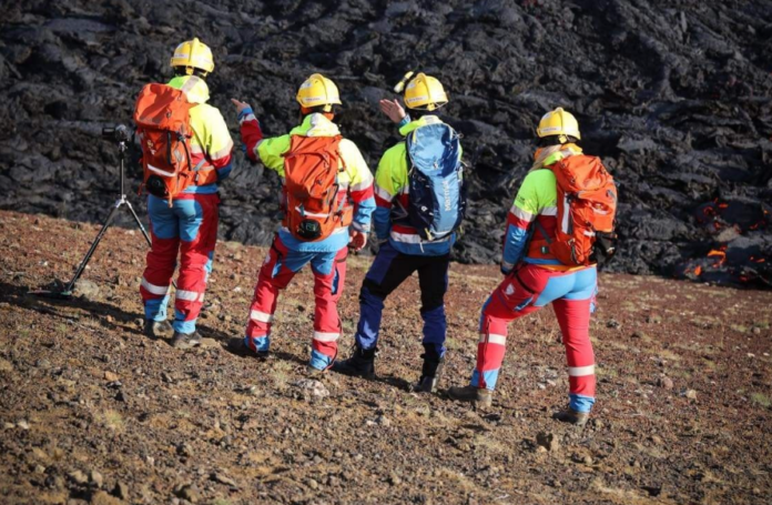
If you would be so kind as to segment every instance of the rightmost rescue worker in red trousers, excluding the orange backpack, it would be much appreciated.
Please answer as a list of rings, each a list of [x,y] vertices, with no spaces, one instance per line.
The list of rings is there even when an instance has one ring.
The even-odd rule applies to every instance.
[[[490,406],[501,362],[507,326],[524,315],[552,304],[566,346],[569,375],[568,408],[559,421],[583,425],[596,401],[595,355],[590,342],[590,313],[597,293],[596,264],[561,264],[546,246],[557,229],[556,176],[549,166],[582,153],[579,123],[558,108],[548,112],[537,129],[539,148],[507,216],[501,260],[505,280],[482,306],[477,365],[470,385],[451,387],[455,400]]]

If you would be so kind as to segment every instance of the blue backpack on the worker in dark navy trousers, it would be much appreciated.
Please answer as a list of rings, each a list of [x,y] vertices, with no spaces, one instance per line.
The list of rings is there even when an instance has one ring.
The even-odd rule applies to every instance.
[[[407,220],[427,241],[446,238],[464,221],[467,201],[458,138],[445,123],[419,127],[407,135]]]

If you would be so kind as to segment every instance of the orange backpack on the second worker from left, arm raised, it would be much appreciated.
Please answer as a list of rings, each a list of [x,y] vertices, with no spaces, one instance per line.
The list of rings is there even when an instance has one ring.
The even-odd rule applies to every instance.
[[[284,154],[284,225],[301,241],[324,240],[352,221],[351,206],[338,199],[338,173],[345,170],[341,139],[293,135]]]

